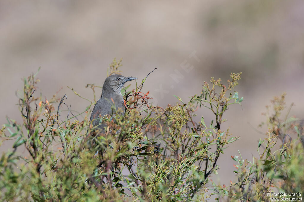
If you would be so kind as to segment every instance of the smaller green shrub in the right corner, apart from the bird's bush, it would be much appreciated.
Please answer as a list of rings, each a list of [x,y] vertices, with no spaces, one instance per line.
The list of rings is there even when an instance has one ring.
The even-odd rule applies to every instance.
[[[281,200],[295,200],[303,197],[304,190],[304,141],[303,121],[287,115],[281,119],[285,107],[285,93],[275,97],[267,106],[266,124],[268,131],[264,140],[260,139],[257,145],[259,156],[252,161],[244,160],[241,154],[231,156],[237,162],[237,182],[230,186],[217,186],[215,192],[228,196],[230,201],[270,201],[271,197]],[[263,125],[265,123],[262,123]],[[294,139],[292,138],[294,137]],[[281,144],[280,144],[281,142]],[[270,194],[282,193],[282,196]],[[298,194],[298,195],[294,195]],[[284,198],[284,199],[283,199]]]

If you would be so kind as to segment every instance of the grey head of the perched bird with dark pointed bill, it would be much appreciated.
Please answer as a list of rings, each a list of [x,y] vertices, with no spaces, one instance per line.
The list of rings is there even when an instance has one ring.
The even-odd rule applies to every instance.
[[[127,81],[132,81],[135,79],[137,78],[124,77],[122,75],[110,75],[105,79],[102,89],[112,89],[113,91],[120,93],[121,88],[123,88],[123,84],[125,84]]]

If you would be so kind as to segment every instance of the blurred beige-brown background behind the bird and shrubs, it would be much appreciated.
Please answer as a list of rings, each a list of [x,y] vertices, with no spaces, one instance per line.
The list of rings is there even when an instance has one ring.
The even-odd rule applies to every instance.
[[[252,159],[257,153],[257,141],[264,136],[252,126],[265,121],[261,113],[273,96],[287,92],[287,103],[295,102],[291,114],[303,118],[303,41],[302,0],[0,0],[0,123],[6,115],[21,120],[15,92],[22,90],[21,78],[38,67],[36,96],[50,99],[62,88],[57,95],[67,94],[66,103],[79,112],[89,103],[67,86],[93,99],[85,86],[102,85],[114,57],[123,58],[123,75],[139,81],[158,68],[144,91],[161,107],[177,102],[173,94],[188,101],[211,77],[225,81],[230,72],[242,71],[236,90],[244,97],[243,106],[231,106],[223,124],[241,139],[219,158],[221,169],[215,176],[229,184],[234,178],[230,156],[239,150]],[[201,115],[211,120],[205,112],[198,111],[198,120]],[[4,142],[0,151],[9,148]]]

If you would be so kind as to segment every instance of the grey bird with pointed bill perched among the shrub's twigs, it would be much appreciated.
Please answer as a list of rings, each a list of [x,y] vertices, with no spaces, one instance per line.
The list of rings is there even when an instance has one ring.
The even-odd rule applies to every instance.
[[[137,78],[124,77],[122,75],[110,75],[105,79],[102,86],[101,97],[96,102],[90,117],[89,123],[92,124],[93,127],[98,126],[100,130],[104,130],[105,124],[100,121],[100,117],[105,117],[107,114],[109,117],[112,117],[115,113],[112,106],[114,107],[115,105],[116,110],[119,108],[122,110],[124,109],[123,95],[120,91],[127,81],[132,81],[135,79]]]

